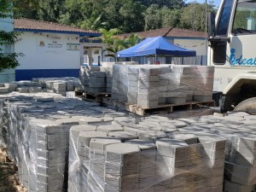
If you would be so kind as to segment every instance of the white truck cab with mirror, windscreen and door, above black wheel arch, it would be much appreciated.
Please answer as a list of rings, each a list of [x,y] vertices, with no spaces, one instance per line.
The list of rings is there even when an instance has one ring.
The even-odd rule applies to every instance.
[[[224,0],[208,63],[215,67],[214,91],[223,92],[240,73],[256,71],[256,0]]]

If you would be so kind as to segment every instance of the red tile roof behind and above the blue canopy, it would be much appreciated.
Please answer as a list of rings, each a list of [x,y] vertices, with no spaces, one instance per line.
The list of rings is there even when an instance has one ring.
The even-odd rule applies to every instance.
[[[120,38],[127,38],[131,33],[120,34]],[[205,32],[195,32],[189,29],[165,27],[147,32],[135,32],[140,38],[163,36],[166,38],[206,38]]]

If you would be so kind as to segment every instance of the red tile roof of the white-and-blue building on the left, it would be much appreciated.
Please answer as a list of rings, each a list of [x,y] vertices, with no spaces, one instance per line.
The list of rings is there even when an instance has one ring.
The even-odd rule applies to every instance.
[[[15,30],[28,30],[28,31],[45,31],[45,32],[72,32],[78,34],[91,34],[92,36],[99,36],[99,32],[84,30],[78,27],[65,26],[54,22],[48,22],[44,20],[31,20],[31,19],[15,19]]]

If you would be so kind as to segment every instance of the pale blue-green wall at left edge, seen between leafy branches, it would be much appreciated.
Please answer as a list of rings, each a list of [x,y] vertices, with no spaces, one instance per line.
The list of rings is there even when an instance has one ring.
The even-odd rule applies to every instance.
[[[11,18],[0,19],[1,30],[5,32],[14,31],[14,20]],[[8,44],[1,47],[2,53],[14,53],[14,44]],[[15,69],[4,70],[0,73],[0,83],[11,82],[15,80]]]

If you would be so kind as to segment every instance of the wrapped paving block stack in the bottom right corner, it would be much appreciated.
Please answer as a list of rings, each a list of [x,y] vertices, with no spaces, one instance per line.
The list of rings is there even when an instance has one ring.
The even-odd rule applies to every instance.
[[[251,192],[256,184],[256,139],[233,137],[225,162],[225,191]]]

